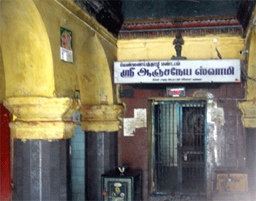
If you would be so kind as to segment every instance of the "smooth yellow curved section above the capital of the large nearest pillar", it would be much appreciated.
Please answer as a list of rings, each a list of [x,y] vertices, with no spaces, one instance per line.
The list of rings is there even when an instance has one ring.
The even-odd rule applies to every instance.
[[[6,97],[53,97],[50,41],[37,7],[31,0],[0,4]]]

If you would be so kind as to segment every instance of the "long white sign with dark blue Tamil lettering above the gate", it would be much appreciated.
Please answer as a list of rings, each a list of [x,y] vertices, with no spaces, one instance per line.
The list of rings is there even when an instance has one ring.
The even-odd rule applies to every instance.
[[[114,63],[114,82],[241,82],[240,68],[238,59],[122,61]]]

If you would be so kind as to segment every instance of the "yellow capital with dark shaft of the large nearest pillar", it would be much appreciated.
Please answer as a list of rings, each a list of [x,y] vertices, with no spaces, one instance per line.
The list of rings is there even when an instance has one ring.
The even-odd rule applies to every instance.
[[[68,117],[79,106],[70,98],[7,98],[4,106],[17,117],[13,138],[12,200],[69,200]]]

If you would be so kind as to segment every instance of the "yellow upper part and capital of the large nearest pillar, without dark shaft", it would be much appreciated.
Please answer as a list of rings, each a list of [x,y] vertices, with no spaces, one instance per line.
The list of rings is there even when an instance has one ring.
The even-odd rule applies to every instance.
[[[78,100],[55,98],[53,57],[48,32],[34,1],[0,1],[4,106],[18,117],[10,123],[12,138],[71,138],[68,115]]]

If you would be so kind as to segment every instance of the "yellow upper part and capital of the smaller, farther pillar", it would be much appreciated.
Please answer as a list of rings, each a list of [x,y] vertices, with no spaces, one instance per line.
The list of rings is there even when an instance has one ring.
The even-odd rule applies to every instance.
[[[97,35],[84,42],[78,60],[84,63],[78,68],[82,129],[94,132],[118,131],[118,117],[123,106],[113,103],[110,68]]]

